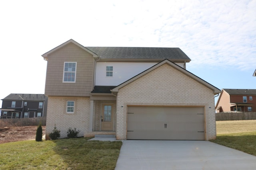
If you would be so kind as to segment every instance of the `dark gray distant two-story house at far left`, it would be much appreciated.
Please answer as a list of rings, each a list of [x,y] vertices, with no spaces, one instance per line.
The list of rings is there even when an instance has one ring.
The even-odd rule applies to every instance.
[[[46,117],[47,100],[44,94],[9,94],[2,99],[1,119]]]

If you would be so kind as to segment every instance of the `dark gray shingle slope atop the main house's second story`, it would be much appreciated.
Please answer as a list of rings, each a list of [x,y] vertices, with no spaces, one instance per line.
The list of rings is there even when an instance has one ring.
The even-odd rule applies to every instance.
[[[191,61],[180,48],[162,47],[86,47],[102,59],[169,59]]]

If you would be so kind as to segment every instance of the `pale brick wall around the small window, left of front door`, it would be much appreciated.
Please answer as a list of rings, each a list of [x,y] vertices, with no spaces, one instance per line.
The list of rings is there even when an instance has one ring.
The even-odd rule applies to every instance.
[[[75,101],[74,113],[66,113],[67,100]],[[60,130],[60,138],[67,137],[68,128],[80,130],[78,136],[84,136],[89,129],[90,98],[82,97],[48,97],[46,134],[54,129],[56,124]]]

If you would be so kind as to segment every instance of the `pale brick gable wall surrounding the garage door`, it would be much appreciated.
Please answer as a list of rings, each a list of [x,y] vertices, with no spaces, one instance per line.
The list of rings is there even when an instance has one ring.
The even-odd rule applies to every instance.
[[[120,140],[126,139],[128,105],[204,106],[206,140],[216,138],[213,91],[168,64],[119,89],[116,138]]]

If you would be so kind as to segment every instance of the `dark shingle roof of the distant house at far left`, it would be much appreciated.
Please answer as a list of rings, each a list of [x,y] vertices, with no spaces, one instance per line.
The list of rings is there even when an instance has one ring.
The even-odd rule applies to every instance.
[[[44,101],[47,96],[44,94],[9,94],[2,100],[27,100],[27,101]]]

